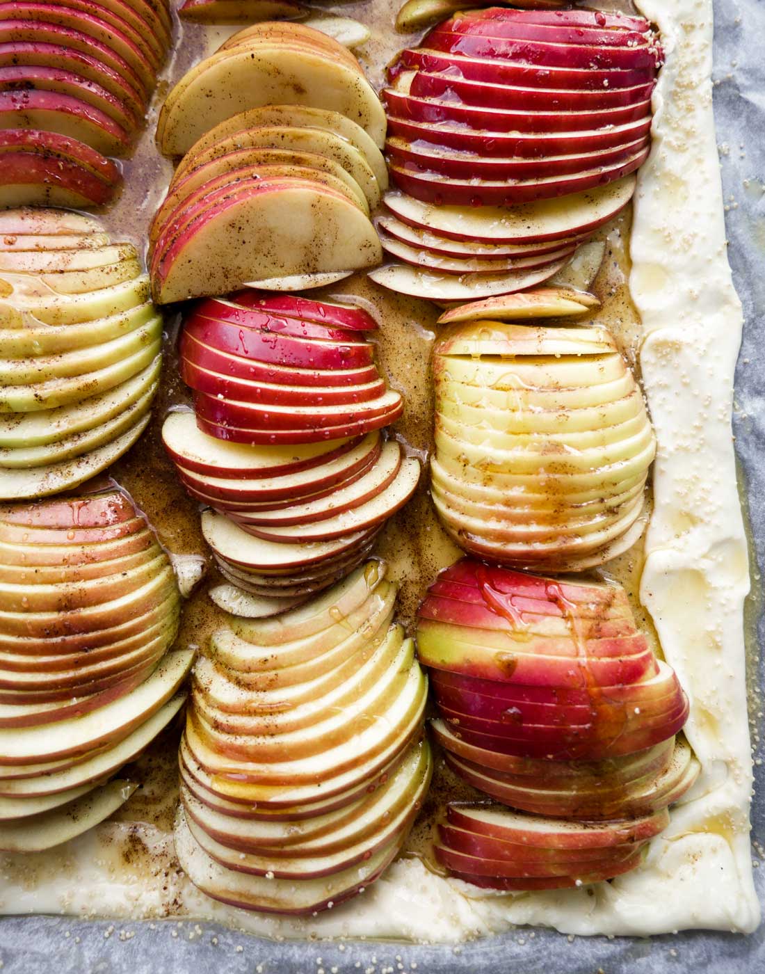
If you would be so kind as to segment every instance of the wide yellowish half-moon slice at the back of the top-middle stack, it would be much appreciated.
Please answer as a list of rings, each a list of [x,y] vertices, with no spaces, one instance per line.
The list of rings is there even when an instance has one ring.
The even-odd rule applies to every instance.
[[[164,102],[158,144],[164,155],[182,156],[204,132],[238,112],[294,102],[358,120],[375,143],[383,145],[383,106],[359,71],[344,60],[275,41],[271,48],[221,52],[192,69]]]

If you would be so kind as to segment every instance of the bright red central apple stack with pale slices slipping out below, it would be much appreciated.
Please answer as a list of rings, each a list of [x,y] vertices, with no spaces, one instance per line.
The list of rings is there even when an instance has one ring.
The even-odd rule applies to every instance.
[[[419,460],[383,438],[403,406],[365,337],[375,327],[349,305],[253,290],[202,301],[185,321],[196,417],[170,415],[164,444],[216,511],[204,537],[251,612],[343,578],[417,488]]]

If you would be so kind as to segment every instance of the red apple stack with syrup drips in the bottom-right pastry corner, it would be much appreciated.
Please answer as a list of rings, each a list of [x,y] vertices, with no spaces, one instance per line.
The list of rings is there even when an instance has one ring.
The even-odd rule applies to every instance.
[[[450,808],[439,860],[505,889],[635,868],[699,764],[674,739],[688,701],[638,632],[624,589],[463,559],[428,590],[417,641],[448,765],[520,809]]]

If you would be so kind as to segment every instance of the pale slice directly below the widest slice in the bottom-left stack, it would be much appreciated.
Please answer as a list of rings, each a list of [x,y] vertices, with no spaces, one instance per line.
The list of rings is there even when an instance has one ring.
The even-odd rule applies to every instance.
[[[134,761],[180,712],[185,702],[186,694],[176,693],[119,743],[70,768],[41,773],[36,777],[0,782],[0,795],[3,796],[0,800],[0,811],[6,801],[16,801],[21,805],[33,798],[65,794],[73,788],[92,788],[93,782],[114,774],[119,768]]]

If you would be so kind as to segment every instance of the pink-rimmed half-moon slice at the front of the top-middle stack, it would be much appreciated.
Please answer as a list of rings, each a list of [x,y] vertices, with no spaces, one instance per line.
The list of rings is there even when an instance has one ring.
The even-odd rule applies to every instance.
[[[218,255],[212,266],[211,253]],[[265,277],[356,270],[381,257],[374,227],[340,194],[298,179],[245,183],[228,204],[192,220],[164,256],[154,286],[166,303]]]

